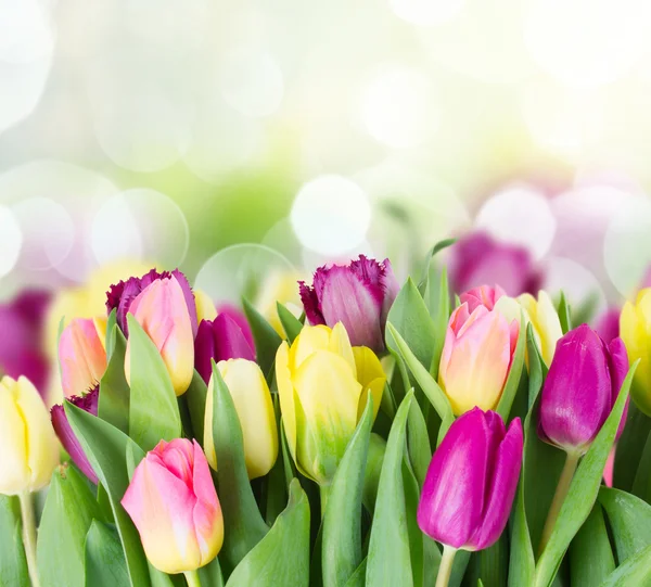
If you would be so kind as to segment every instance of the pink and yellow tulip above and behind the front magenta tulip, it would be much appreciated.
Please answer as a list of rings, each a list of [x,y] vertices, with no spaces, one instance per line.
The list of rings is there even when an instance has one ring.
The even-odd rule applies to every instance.
[[[478,406],[497,407],[507,382],[520,323],[497,309],[477,306],[471,312],[468,302],[461,304],[448,323],[438,383],[455,414]]]

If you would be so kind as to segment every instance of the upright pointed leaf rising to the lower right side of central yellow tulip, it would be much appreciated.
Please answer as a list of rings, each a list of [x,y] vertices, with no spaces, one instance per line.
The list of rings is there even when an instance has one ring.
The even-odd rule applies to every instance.
[[[373,425],[369,398],[330,486],[321,534],[323,587],[344,585],[361,564],[361,498]]]

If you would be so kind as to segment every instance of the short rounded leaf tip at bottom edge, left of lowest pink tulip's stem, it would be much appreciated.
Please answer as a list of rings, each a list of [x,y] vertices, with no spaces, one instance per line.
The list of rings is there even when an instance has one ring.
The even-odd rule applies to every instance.
[[[93,520],[86,536],[86,587],[129,587],[129,573],[119,536]]]

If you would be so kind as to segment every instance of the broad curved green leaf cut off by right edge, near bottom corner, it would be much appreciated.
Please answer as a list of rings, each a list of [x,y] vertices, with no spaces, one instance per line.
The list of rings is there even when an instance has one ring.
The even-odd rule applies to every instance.
[[[601,487],[599,502],[610,523],[620,563],[651,544],[651,506],[608,487]]]

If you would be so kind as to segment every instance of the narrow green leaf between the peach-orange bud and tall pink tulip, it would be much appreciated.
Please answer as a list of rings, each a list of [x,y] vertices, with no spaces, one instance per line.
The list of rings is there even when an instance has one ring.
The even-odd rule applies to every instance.
[[[114,315],[115,310],[112,314]],[[113,352],[100,381],[98,417],[125,434],[129,431],[129,384],[125,378],[127,341],[117,324],[107,334]]]

